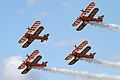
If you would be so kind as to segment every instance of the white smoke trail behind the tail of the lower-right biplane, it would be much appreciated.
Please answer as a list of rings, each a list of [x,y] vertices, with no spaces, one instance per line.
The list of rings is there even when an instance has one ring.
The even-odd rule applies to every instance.
[[[120,62],[110,62],[110,61],[94,59],[93,63],[101,64],[104,67],[120,68]]]

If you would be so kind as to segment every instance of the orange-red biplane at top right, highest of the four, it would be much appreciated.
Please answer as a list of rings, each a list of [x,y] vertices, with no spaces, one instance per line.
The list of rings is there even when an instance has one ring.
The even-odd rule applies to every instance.
[[[90,21],[95,21],[95,22],[102,22],[103,21],[104,15],[99,16],[98,18],[93,18],[95,16],[95,14],[99,11],[99,9],[94,8],[94,6],[95,6],[95,3],[91,2],[85,10],[81,10],[82,14],[72,24],[72,26],[78,26],[80,24],[80,22],[83,21],[82,24],[76,29],[77,31],[82,30],[87,25],[87,23]],[[92,8],[94,8],[93,11],[88,16],[85,16],[86,14],[88,14],[92,10]]]

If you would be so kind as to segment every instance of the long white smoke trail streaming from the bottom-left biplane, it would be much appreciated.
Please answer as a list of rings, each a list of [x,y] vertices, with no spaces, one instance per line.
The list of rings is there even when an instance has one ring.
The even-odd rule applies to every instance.
[[[76,77],[83,77],[83,78],[91,78],[91,79],[104,79],[104,80],[120,80],[120,76],[112,76],[107,74],[90,74],[86,71],[75,71],[75,70],[69,70],[69,69],[56,69],[56,68],[40,68],[40,67],[34,67],[34,69],[38,70],[44,70],[48,72],[54,72],[54,73],[61,73],[65,75],[70,76],[76,76]]]

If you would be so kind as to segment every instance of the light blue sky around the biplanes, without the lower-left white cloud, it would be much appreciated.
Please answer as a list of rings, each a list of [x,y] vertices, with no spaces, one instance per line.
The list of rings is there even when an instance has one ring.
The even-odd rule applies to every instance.
[[[95,59],[120,61],[119,31],[88,24],[78,32],[76,31],[77,27],[72,26],[82,13],[80,10],[86,9],[92,1],[95,2],[95,7],[99,8],[95,17],[104,15],[104,23],[120,25],[119,0],[2,0],[0,5],[0,74],[4,74],[6,63],[9,63],[11,57],[16,56],[24,60],[26,54],[39,50],[39,54],[43,57],[40,63],[48,61],[48,68],[119,75],[119,69],[106,68],[85,61],[78,61],[75,65],[69,66],[69,61],[64,60],[73,51],[75,44],[78,46],[82,41],[87,40],[88,45],[92,48],[88,54],[96,52]],[[40,26],[44,26],[40,35],[49,33],[49,39],[43,43],[35,40],[28,48],[23,49],[23,44],[19,44],[18,41],[27,32],[26,28],[32,26],[37,20],[41,21]],[[20,75],[20,73],[17,74]],[[39,70],[31,70],[25,76],[33,77],[31,75],[35,75],[36,80],[88,80]],[[3,77],[3,80],[9,79]]]

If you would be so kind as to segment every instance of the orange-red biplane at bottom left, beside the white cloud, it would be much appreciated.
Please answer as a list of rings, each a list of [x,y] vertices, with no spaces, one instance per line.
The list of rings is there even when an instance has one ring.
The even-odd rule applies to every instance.
[[[19,70],[24,69],[26,67],[26,69],[24,69],[24,71],[21,72],[21,74],[26,74],[28,73],[33,67],[46,67],[47,66],[47,61],[46,62],[42,62],[42,64],[38,64],[38,62],[40,61],[40,59],[42,58],[42,56],[38,55],[36,57],[36,55],[39,53],[38,50],[35,50],[30,56],[27,55],[27,59],[25,61],[23,61],[23,63],[18,67]],[[34,57],[36,57],[34,59]],[[32,62],[30,62],[31,59],[34,59]]]

